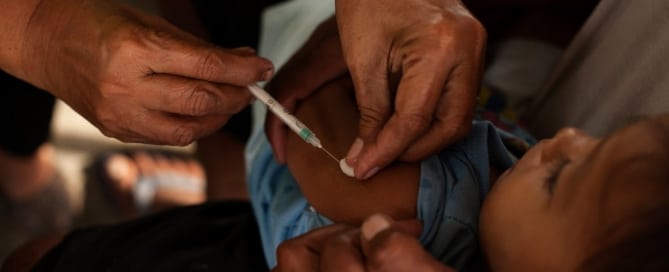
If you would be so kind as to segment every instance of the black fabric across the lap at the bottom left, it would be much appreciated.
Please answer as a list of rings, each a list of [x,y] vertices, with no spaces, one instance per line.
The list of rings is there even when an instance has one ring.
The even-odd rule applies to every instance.
[[[248,202],[184,207],[70,233],[34,271],[267,271]]]

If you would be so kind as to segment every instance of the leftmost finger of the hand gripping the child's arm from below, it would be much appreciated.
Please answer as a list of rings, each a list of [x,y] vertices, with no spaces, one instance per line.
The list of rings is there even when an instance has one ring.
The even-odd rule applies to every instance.
[[[327,240],[350,229],[350,226],[343,224],[331,225],[281,243],[276,251],[275,270],[318,271],[320,256]]]

